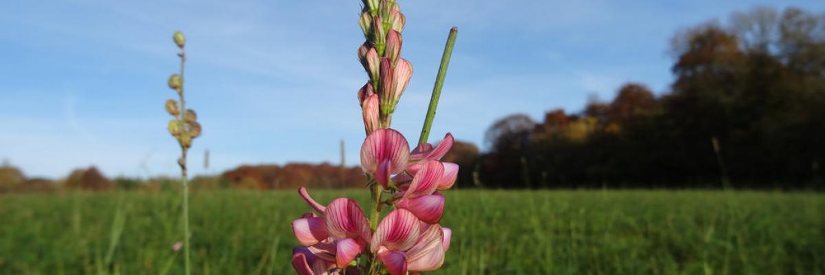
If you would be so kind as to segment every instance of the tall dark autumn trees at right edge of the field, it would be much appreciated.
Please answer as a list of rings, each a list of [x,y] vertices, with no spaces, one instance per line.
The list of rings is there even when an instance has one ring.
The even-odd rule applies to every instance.
[[[627,83],[610,102],[514,114],[461,186],[823,187],[825,14],[734,12],[672,39],[675,81]]]

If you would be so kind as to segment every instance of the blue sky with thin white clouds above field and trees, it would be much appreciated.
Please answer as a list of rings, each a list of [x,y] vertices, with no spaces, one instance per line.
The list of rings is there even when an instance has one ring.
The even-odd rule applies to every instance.
[[[194,173],[239,164],[358,164],[364,138],[356,91],[366,75],[360,2],[40,1],[0,9],[0,159],[27,175],[59,178],[97,165],[109,176],[177,173],[165,130],[166,79],[177,69],[172,32],[186,33],[186,91],[204,135]],[[450,26],[459,26],[433,127],[483,144],[483,131],[516,112],[578,111],[620,84],[656,92],[672,81],[669,40],[730,12],[825,2],[399,1],[402,56],[415,73],[394,128],[417,140]],[[210,149],[211,168],[200,165]]]

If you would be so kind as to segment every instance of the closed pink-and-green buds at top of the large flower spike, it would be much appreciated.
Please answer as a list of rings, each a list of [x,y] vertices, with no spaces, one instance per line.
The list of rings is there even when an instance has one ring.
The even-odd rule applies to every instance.
[[[404,15],[393,0],[363,0],[361,31],[366,41],[358,59],[370,80],[358,91],[367,134],[389,128],[389,123],[410,77],[413,65],[400,57]]]

